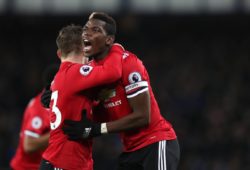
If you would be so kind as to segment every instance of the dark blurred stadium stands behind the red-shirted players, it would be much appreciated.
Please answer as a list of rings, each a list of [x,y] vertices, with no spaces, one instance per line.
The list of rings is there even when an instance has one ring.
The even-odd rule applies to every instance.
[[[92,11],[143,60],[181,146],[179,170],[250,169],[250,0],[0,0],[0,170],[15,153],[26,104],[59,63],[55,39]],[[116,135],[95,140],[95,170],[114,170]]]

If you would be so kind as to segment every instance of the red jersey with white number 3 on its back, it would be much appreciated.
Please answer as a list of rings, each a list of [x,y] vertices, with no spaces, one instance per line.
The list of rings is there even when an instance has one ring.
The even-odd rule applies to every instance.
[[[63,62],[51,84],[50,139],[43,158],[64,170],[92,170],[92,140],[69,141],[61,127],[65,119],[80,120],[81,111],[90,117],[93,101],[89,88],[121,78],[123,49],[113,46],[107,62],[93,67]]]

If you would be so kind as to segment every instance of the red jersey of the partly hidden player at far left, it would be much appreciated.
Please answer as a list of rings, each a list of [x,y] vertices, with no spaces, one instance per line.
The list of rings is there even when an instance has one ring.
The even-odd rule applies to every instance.
[[[33,98],[23,115],[18,148],[11,160],[11,168],[14,170],[37,170],[39,169],[43,151],[25,153],[23,142],[25,135],[37,138],[50,130],[49,110],[42,107],[41,94]]]

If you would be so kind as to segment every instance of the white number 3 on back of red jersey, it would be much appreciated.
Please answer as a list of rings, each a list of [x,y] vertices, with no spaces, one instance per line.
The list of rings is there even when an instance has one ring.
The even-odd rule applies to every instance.
[[[59,110],[59,108],[56,106],[57,104],[57,99],[58,99],[58,91],[54,91],[51,95],[51,100],[53,100],[53,106],[52,106],[52,113],[55,114],[56,116],[56,119],[54,122],[50,122],[50,128],[51,130],[54,130],[56,129],[61,121],[62,121],[62,114],[61,114],[61,111]]]

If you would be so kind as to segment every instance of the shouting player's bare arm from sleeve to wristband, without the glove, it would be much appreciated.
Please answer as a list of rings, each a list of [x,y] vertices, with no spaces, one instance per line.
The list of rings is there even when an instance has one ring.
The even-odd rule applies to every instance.
[[[150,123],[150,96],[149,92],[143,92],[128,99],[133,112],[121,119],[107,122],[109,133],[131,130],[145,127]]]

